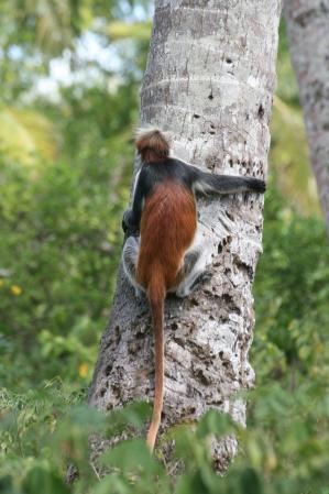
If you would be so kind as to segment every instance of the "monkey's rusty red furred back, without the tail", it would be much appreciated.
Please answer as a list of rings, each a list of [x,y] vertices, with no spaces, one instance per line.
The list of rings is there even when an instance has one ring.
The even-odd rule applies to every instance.
[[[196,232],[196,204],[189,189],[174,179],[155,186],[141,218],[141,248],[136,277],[147,289],[151,279],[175,289],[183,257]]]

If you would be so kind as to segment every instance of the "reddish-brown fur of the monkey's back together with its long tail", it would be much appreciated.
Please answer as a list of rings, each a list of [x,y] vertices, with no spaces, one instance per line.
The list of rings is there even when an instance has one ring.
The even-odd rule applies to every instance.
[[[197,227],[191,193],[172,180],[160,184],[146,199],[141,219],[141,248],[136,279],[146,290],[154,326],[155,392],[147,444],[153,450],[163,408],[165,294],[175,289],[184,255]]]

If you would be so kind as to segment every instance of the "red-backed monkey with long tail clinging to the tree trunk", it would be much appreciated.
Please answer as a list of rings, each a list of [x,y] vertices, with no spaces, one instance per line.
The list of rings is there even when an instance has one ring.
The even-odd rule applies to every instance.
[[[189,295],[206,272],[196,235],[195,194],[264,193],[259,178],[201,172],[169,157],[169,144],[160,130],[142,130],[135,145],[142,165],[138,172],[132,207],[123,215],[128,234],[123,267],[136,294],[150,301],[155,340],[155,392],[147,444],[153,451],[161,422],[164,394],[164,300],[167,292]]]

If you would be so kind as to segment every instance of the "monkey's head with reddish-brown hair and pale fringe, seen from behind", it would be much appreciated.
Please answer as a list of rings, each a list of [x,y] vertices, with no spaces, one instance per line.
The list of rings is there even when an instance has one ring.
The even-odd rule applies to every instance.
[[[168,138],[160,129],[143,128],[135,133],[135,146],[145,163],[161,163],[169,155]]]

